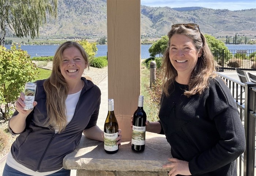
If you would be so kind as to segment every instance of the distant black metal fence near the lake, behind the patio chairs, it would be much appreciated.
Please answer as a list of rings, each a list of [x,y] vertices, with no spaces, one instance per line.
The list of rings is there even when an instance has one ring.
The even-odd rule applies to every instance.
[[[256,49],[255,50],[214,50],[215,66],[219,71],[255,70],[256,71]]]

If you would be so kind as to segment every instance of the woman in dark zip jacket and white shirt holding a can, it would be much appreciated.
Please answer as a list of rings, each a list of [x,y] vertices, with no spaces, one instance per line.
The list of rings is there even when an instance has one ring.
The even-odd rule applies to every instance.
[[[79,145],[82,133],[103,141],[97,124],[101,91],[82,77],[89,61],[83,47],[65,42],[53,58],[50,77],[36,81],[34,109],[24,110],[24,94],[15,103],[9,121],[12,134],[19,134],[11,147],[3,176],[67,176],[63,158]],[[118,130],[120,144],[121,130]]]

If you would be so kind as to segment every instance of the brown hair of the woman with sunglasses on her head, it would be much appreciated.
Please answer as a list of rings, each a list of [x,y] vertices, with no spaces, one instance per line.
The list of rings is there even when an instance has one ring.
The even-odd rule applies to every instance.
[[[163,56],[163,93],[169,96],[168,89],[173,86],[176,76],[178,75],[177,70],[173,67],[170,62],[170,39],[174,34],[183,34],[193,40],[193,44],[197,51],[202,50],[202,55],[198,58],[195,68],[191,73],[191,77],[188,81],[188,90],[184,92],[184,95],[190,97],[195,94],[202,94],[203,90],[209,85],[209,78],[216,77],[214,56],[211,53],[206,39],[203,34],[197,29],[186,28],[183,25],[173,27],[168,33],[169,41],[168,46]]]

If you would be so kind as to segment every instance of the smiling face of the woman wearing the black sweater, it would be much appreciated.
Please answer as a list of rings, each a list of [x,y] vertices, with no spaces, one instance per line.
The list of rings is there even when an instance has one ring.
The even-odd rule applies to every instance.
[[[170,39],[169,58],[178,76],[189,78],[201,54],[193,40],[186,35],[174,34]]]

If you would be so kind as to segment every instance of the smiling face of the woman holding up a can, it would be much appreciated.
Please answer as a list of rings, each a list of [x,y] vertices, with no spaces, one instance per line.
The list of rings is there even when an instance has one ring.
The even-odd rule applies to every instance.
[[[67,83],[80,81],[86,67],[87,63],[78,48],[69,47],[63,51],[60,72]]]

